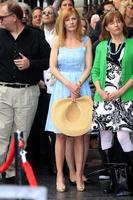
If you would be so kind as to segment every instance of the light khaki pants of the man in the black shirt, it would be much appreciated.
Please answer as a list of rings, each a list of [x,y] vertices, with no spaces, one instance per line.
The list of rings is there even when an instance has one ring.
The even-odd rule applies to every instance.
[[[0,86],[0,165],[6,160],[9,141],[14,132],[30,133],[38,105],[38,86],[11,88]],[[14,164],[6,171],[6,178],[15,175]]]

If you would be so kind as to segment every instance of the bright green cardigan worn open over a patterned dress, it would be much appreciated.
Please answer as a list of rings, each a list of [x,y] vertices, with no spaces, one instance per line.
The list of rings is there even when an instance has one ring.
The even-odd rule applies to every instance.
[[[91,71],[92,81],[100,81],[102,89],[105,88],[106,66],[107,66],[107,40],[102,41],[96,48],[95,59]],[[122,85],[133,79],[133,39],[126,39],[124,56],[122,59]],[[129,88],[122,96],[123,102],[133,101],[133,87]],[[102,101],[100,95],[95,92],[94,100]]]

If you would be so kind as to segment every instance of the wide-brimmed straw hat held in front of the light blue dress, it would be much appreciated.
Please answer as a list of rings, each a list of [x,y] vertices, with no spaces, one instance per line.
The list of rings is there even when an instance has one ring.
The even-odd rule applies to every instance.
[[[93,102],[83,96],[72,101],[71,98],[57,100],[51,109],[56,128],[67,136],[80,136],[89,131],[92,124]]]

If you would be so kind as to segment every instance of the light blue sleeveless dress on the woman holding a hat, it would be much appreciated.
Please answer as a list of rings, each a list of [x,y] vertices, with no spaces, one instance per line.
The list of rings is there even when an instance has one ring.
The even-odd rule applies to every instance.
[[[82,44],[79,48],[59,48],[57,63],[58,68],[60,70],[60,73],[72,83],[76,83],[77,81],[79,81],[79,78],[85,68],[85,55],[86,47],[84,46],[84,44]],[[91,96],[88,80],[86,80],[81,86],[80,96],[83,95]],[[45,131],[60,133],[60,131],[54,126],[53,121],[51,119],[51,106],[56,100],[67,98],[69,96],[70,90],[59,80],[56,80],[53,92],[51,94]]]

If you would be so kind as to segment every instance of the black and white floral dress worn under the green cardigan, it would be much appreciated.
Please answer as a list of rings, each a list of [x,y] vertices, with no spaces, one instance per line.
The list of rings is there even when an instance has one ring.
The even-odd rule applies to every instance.
[[[108,42],[105,91],[114,91],[121,85],[121,63],[124,49],[125,43],[122,43],[115,53],[115,44],[111,41]],[[122,102],[121,98],[111,102],[95,102],[93,119],[93,130],[127,130],[132,132],[133,102],[125,103]]]

